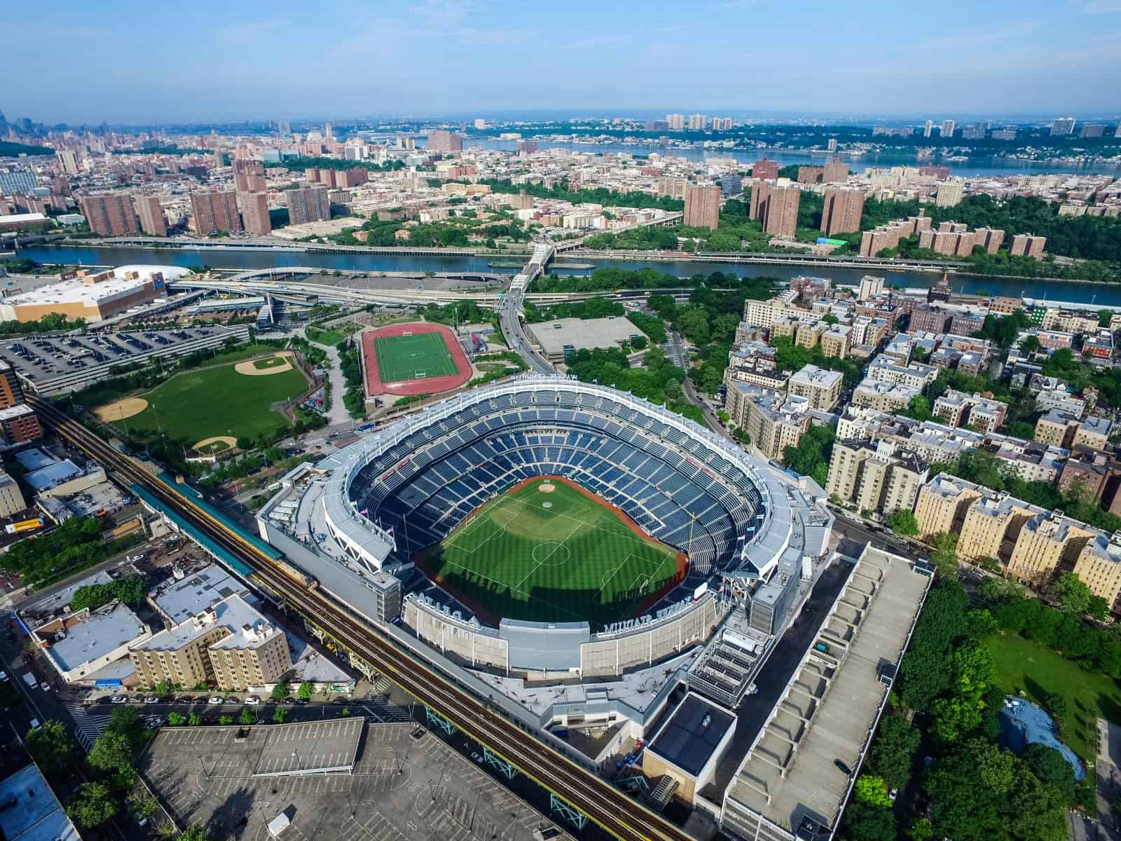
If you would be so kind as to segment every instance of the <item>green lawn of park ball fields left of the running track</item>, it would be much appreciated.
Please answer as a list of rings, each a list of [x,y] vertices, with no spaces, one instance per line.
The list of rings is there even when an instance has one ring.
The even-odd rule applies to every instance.
[[[133,434],[163,431],[188,444],[214,435],[257,437],[287,426],[285,416],[270,407],[306,388],[298,369],[267,377],[238,373],[233,364],[189,371],[138,395],[148,408],[114,425]]]

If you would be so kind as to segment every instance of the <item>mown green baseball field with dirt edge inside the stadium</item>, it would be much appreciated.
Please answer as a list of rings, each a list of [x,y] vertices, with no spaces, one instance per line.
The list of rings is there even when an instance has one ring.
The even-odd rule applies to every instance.
[[[575,488],[543,484],[489,502],[424,553],[424,569],[492,617],[593,627],[631,618],[676,575],[676,549]]]

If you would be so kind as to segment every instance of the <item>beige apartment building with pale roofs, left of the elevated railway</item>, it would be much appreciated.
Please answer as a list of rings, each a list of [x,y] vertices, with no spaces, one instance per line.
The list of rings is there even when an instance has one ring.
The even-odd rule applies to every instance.
[[[170,681],[247,691],[291,667],[288,640],[240,595],[230,595],[129,650],[143,686]]]

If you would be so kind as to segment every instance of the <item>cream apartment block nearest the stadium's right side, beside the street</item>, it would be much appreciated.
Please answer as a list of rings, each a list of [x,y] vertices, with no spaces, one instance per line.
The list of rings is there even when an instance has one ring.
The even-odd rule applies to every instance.
[[[836,441],[825,489],[861,511],[890,517],[915,507],[926,480],[926,462],[916,453],[887,441]]]

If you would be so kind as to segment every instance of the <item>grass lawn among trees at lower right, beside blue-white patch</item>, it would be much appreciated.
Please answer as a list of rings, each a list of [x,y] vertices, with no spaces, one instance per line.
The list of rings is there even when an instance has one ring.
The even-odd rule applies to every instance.
[[[994,636],[986,645],[997,664],[997,680],[1008,694],[1022,691],[1037,703],[1050,692],[1066,697],[1067,713],[1059,721],[1059,736],[1084,760],[1095,761],[1096,720],[1121,722],[1121,687],[1117,681],[1086,672],[1019,635]]]

